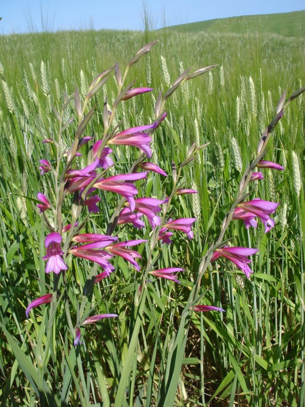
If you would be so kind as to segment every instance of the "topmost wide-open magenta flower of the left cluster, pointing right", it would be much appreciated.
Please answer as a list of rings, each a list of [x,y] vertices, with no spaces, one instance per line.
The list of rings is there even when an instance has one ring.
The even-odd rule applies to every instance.
[[[155,122],[151,125],[133,127],[131,129],[122,131],[113,136],[108,141],[108,144],[138,147],[147,155],[147,157],[150,158],[151,150],[149,143],[151,141],[151,137],[149,137],[147,133],[144,133],[144,131],[155,129],[157,126],[158,123]]]

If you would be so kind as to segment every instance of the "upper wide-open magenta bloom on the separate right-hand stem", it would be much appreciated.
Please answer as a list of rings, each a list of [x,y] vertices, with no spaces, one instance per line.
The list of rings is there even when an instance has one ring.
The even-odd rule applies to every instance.
[[[255,198],[253,200],[249,200],[248,202],[242,202],[237,205],[237,208],[239,209],[237,210],[236,208],[234,210],[232,219],[245,219],[243,218],[243,216],[246,215],[240,212],[240,209],[242,209],[244,212],[248,212],[251,215],[258,216],[265,225],[265,233],[267,233],[275,225],[275,221],[270,218],[269,214],[275,213],[280,203],[281,202],[262,200],[260,198]],[[246,222],[245,224],[247,226]]]

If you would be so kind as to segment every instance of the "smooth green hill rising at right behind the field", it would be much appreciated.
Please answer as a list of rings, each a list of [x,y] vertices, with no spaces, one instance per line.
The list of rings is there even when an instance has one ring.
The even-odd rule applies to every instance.
[[[258,33],[278,34],[285,37],[305,36],[305,10],[292,13],[263,14],[218,18],[167,27],[179,32]],[[164,29],[163,29],[164,30]]]

